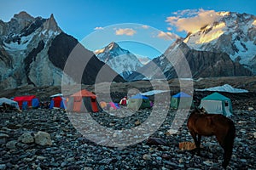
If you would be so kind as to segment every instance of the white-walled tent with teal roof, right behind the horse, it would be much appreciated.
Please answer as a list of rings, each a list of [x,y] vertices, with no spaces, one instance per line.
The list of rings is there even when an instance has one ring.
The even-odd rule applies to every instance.
[[[217,92],[201,99],[200,107],[203,107],[208,113],[223,114],[224,116],[232,115],[231,100]]]

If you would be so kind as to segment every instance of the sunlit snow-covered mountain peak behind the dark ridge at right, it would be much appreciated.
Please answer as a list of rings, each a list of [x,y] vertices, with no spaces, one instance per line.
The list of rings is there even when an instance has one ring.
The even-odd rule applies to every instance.
[[[183,42],[201,51],[218,51],[251,68],[256,54],[256,16],[219,12],[212,23],[189,33]],[[256,69],[251,68],[254,73]]]

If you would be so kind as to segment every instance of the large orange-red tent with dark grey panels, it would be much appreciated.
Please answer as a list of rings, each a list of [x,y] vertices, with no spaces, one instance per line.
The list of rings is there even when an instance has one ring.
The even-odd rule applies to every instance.
[[[67,111],[98,112],[102,111],[102,108],[96,100],[96,94],[83,89],[70,96],[67,103]]]

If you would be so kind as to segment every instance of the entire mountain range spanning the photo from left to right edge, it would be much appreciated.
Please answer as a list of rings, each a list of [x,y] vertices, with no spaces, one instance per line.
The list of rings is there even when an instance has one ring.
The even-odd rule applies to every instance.
[[[116,42],[91,52],[62,31],[53,14],[44,19],[20,12],[9,22],[0,20],[0,87],[61,85],[67,59],[76,55],[74,49],[79,49],[79,55],[77,59],[69,59],[70,72],[64,72],[68,83],[112,81],[108,77],[114,77],[114,82],[124,82],[252,76],[256,75],[255,26],[254,15],[220,12],[214,22],[178,38],[164,54],[143,65],[135,54]],[[84,62],[82,77],[76,77],[72,71]]]

